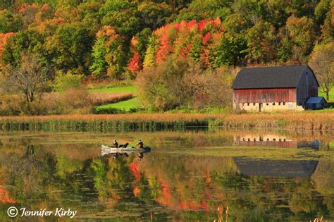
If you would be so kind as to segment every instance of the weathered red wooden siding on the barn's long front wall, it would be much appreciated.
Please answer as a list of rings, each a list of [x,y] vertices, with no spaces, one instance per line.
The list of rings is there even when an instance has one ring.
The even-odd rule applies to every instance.
[[[291,102],[295,98],[293,88],[234,90],[237,103]]]

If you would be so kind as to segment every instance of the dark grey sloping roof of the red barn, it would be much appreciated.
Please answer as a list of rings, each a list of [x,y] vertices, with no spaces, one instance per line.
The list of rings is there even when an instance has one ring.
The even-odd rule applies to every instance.
[[[233,82],[232,88],[264,89],[295,88],[308,66],[276,66],[242,68]]]

